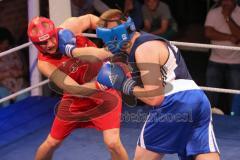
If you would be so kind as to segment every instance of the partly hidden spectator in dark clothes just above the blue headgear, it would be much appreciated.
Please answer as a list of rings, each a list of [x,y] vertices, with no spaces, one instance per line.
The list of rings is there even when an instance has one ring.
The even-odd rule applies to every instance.
[[[124,14],[130,16],[133,19],[135,27],[142,29],[143,16],[141,12],[142,4],[138,0],[125,0],[124,2]]]

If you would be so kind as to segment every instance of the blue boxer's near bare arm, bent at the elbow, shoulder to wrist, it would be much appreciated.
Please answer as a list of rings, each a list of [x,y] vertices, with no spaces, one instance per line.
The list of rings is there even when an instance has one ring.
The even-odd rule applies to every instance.
[[[143,87],[135,86],[133,94],[148,105],[156,106],[164,99],[160,72],[159,48],[144,43],[137,49],[136,64],[140,70]],[[151,53],[151,56],[146,53]]]

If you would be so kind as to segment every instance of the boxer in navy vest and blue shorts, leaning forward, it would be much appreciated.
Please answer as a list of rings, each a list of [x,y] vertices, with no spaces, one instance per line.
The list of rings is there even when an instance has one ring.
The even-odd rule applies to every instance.
[[[118,64],[105,63],[98,82],[152,108],[134,159],[157,160],[177,153],[181,160],[219,160],[210,103],[192,80],[179,49],[161,37],[136,31],[131,18],[119,10],[104,12],[96,33],[113,54],[127,54],[133,69],[129,78]]]

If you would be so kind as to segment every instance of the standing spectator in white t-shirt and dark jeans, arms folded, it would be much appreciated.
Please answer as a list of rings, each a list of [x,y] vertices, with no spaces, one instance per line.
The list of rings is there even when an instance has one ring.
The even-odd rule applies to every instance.
[[[212,44],[240,46],[240,7],[236,0],[220,0],[205,21],[205,35]],[[226,86],[223,86],[226,84]],[[240,52],[212,49],[207,68],[207,86],[240,89]],[[219,106],[219,94],[209,93],[212,106]]]

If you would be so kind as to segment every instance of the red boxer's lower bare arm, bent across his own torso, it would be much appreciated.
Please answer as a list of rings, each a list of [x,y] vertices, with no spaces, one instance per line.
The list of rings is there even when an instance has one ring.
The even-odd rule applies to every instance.
[[[87,96],[97,91],[96,82],[89,82],[83,85],[79,85],[70,76],[48,62],[39,60],[38,68],[43,75],[48,77],[59,88],[68,93]]]

